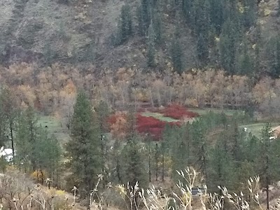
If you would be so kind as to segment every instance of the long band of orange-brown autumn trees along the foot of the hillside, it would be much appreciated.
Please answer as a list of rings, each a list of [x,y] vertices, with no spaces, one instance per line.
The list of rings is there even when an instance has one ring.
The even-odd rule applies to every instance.
[[[119,69],[95,75],[58,64],[43,69],[34,64],[14,64],[2,66],[0,75],[1,83],[15,92],[22,107],[57,113],[61,118],[69,118],[73,112],[78,88],[89,92],[94,105],[104,101],[113,109],[130,102],[149,102],[151,106],[179,102],[202,108],[255,106],[269,116],[279,109],[279,79],[255,81],[247,76],[228,76],[225,71],[193,69],[180,76],[171,71]]]

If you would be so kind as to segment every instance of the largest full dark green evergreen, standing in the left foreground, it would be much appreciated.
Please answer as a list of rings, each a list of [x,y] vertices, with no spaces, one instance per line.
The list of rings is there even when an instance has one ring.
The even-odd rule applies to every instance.
[[[71,119],[71,140],[66,144],[69,167],[82,197],[89,196],[102,172],[102,138],[99,122],[85,92],[79,92]]]

